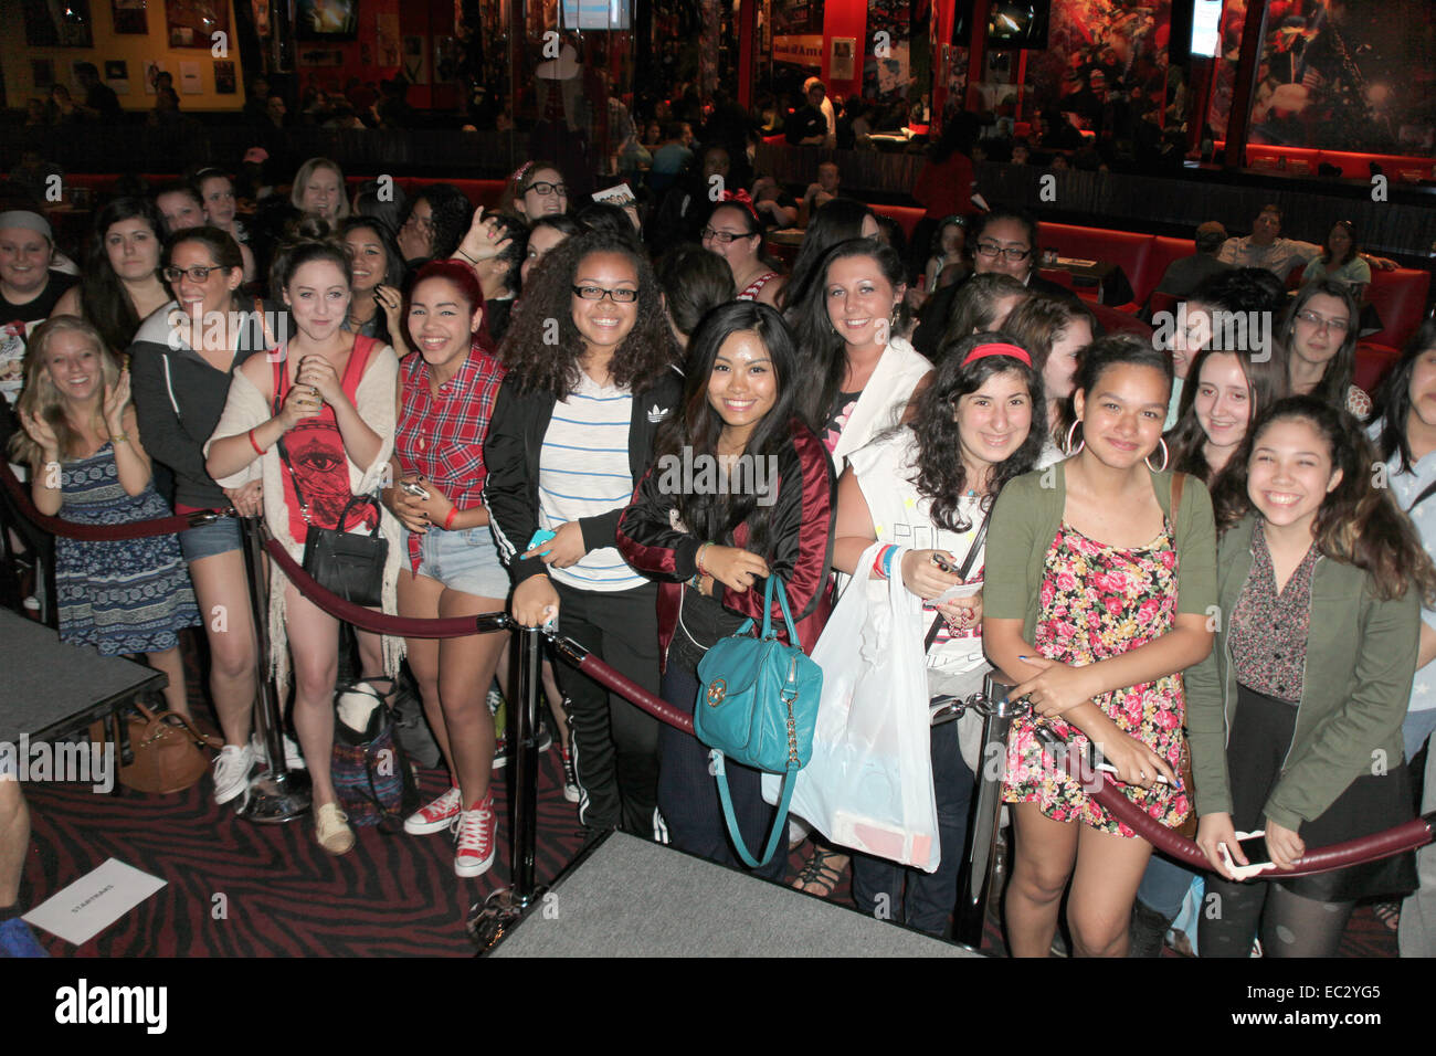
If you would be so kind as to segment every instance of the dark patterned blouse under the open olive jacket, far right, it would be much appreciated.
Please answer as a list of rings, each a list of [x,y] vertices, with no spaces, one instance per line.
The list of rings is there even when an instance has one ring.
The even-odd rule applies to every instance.
[[[1311,631],[1311,572],[1320,557],[1313,543],[1278,593],[1267,534],[1256,522],[1252,570],[1236,601],[1229,635],[1236,681],[1246,688],[1291,704],[1301,701]]]

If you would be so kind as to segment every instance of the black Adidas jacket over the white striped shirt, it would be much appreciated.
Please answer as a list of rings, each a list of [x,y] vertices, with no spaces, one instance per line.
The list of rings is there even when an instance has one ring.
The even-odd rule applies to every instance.
[[[643,478],[653,458],[659,422],[678,412],[682,398],[684,379],[676,368],[633,394],[633,415],[629,420],[629,473],[633,474],[633,484]],[[500,557],[508,565],[516,585],[549,570],[540,560],[517,560],[517,556],[528,549],[528,540],[538,530],[538,458],[557,402],[553,392],[543,389],[520,395],[518,382],[510,375],[498,389],[484,438],[484,506],[488,507]],[[579,519],[584,550],[617,545],[623,509],[619,506]]]

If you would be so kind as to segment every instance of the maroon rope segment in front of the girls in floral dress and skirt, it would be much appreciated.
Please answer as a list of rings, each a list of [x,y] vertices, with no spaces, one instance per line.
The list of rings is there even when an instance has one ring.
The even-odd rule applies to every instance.
[[[1066,741],[1063,741],[1051,728],[1035,726],[1034,731],[1048,747],[1058,751],[1066,747]],[[1215,872],[1212,869],[1212,863],[1206,859],[1206,855],[1202,853],[1202,849],[1196,843],[1147,815],[1146,810],[1127,799],[1127,796],[1114,783],[1107,780],[1107,776],[1101,770],[1093,770],[1091,774],[1099,787],[1090,795],[1107,807],[1113,818],[1136,832],[1157,851],[1170,855],[1182,865],[1192,869]],[[1416,818],[1404,825],[1386,829],[1384,832],[1376,832],[1370,836],[1361,836],[1360,839],[1350,839],[1343,843],[1333,843],[1330,846],[1317,848],[1315,851],[1308,851],[1301,859],[1297,861],[1295,868],[1264,869],[1255,876],[1255,879],[1314,876],[1320,872],[1344,869],[1348,865],[1376,862],[1383,858],[1390,858],[1391,855],[1399,855],[1404,851],[1414,851],[1416,848],[1426,846],[1432,842],[1433,836],[1436,836],[1436,812],[1423,818]]]

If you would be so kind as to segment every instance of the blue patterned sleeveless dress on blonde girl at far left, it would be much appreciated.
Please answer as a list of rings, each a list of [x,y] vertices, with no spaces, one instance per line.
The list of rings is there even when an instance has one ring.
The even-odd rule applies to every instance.
[[[129,524],[168,517],[165,500],[146,484],[125,493],[106,441],[88,458],[63,464],[60,516],[80,524]],[[200,624],[190,572],[174,534],[144,539],[55,540],[60,639],[93,645],[105,657],[164,652],[178,631]]]

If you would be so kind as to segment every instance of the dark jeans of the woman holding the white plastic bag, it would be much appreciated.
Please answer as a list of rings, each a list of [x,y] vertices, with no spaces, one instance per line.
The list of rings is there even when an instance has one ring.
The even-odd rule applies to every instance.
[[[932,790],[938,800],[936,872],[853,852],[853,901],[864,914],[945,938],[958,905],[958,874],[976,779],[962,760],[958,724],[932,727]]]

